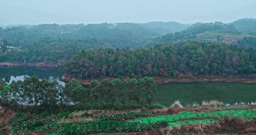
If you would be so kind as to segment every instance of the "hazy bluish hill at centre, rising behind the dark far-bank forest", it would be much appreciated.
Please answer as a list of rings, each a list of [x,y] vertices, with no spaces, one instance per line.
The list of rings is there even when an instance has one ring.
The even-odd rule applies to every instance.
[[[74,32],[76,38],[92,37],[102,40],[113,47],[138,48],[148,37],[158,36],[157,32],[148,30],[138,24],[88,24]]]

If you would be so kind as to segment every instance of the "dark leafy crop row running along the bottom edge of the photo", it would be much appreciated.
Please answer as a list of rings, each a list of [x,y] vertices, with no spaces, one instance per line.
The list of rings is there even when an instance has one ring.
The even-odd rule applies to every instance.
[[[86,135],[93,133],[141,132],[164,127],[167,122],[139,123],[128,121],[95,121],[88,123],[63,123],[57,128],[57,135]]]

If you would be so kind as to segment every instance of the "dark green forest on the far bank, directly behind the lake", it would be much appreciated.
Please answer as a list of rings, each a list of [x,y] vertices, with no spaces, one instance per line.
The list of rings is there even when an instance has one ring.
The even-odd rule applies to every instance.
[[[225,44],[183,42],[154,48],[83,50],[65,71],[80,79],[100,77],[240,75],[256,73],[256,50]]]

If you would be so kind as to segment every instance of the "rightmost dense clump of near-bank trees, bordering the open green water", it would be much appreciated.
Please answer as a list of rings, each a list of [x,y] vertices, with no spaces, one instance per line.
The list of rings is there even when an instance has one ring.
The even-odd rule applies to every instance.
[[[100,109],[114,107],[122,109],[138,106],[147,106],[153,103],[157,95],[157,87],[154,79],[144,77],[143,83],[138,83],[137,79],[122,81],[114,79],[109,81],[103,79],[91,90],[92,101]],[[105,110],[105,113],[107,110]]]

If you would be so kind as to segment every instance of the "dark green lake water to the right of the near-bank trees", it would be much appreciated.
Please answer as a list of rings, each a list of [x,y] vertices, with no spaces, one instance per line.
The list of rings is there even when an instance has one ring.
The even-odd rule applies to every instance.
[[[256,101],[256,84],[249,83],[168,83],[158,85],[157,101],[170,106],[175,100],[201,103],[218,99],[224,103],[251,103]]]

